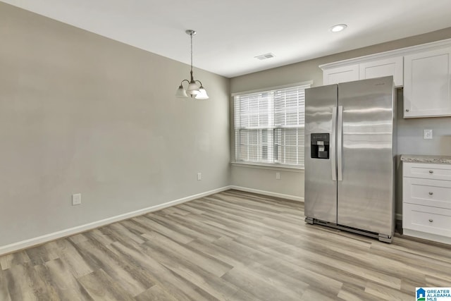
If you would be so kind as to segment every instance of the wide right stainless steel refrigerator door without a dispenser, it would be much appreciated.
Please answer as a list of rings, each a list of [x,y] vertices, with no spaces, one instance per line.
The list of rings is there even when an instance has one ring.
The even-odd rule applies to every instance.
[[[338,85],[342,106],[342,180],[337,223],[393,233],[393,78]],[[340,139],[340,137],[338,137]]]

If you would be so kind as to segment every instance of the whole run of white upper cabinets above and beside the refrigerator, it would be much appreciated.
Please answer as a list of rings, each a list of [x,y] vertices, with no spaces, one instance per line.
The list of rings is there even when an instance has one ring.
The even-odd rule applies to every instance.
[[[319,66],[323,85],[393,75],[404,118],[451,116],[451,39]]]

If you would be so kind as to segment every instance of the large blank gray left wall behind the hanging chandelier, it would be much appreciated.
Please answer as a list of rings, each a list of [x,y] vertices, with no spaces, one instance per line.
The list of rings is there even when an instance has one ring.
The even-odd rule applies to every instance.
[[[0,247],[229,184],[227,78],[177,99],[189,66],[3,3],[0,41]]]

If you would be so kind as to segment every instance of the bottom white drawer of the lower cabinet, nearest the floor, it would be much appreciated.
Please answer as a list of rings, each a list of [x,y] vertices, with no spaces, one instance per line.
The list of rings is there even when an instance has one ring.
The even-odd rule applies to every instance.
[[[451,209],[402,204],[402,228],[451,237]]]

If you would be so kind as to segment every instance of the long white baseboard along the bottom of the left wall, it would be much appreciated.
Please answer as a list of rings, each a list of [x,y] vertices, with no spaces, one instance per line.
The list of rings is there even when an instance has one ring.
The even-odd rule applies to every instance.
[[[68,228],[62,231],[58,231],[58,232],[54,232],[54,233],[49,233],[46,235],[42,235],[42,236],[38,236],[36,238],[30,238],[28,240],[22,240],[20,242],[14,242],[10,245],[4,245],[4,246],[0,246],[0,255],[4,255],[7,253],[11,253],[11,252],[16,252],[18,250],[22,250],[25,249],[27,247],[32,247],[35,245],[41,245],[44,242],[49,242],[51,240],[56,240],[58,238],[63,238],[69,235],[74,235],[77,233],[81,233],[81,232],[85,232],[94,228],[98,228],[101,226],[105,226],[108,225],[109,223],[114,223],[116,221],[122,221],[124,219],[130,219],[132,217],[135,216],[140,216],[142,214],[147,214],[149,212],[152,211],[157,211],[157,210],[161,210],[167,207],[171,207],[174,206],[176,204],[182,204],[184,202],[189,202],[192,201],[193,199],[199,199],[201,197],[206,197],[207,195],[213,195],[214,193],[218,193],[218,192],[222,192],[225,190],[229,190],[231,189],[230,186],[225,186],[222,188],[217,188],[214,190],[209,190],[206,192],[202,192],[199,193],[197,195],[190,195],[189,197],[183,197],[181,199],[175,199],[171,202],[166,202],[163,204],[158,204],[152,207],[147,207],[144,209],[140,209],[140,210],[136,210],[136,211],[131,211],[125,214],[120,214],[117,216],[111,216],[107,219],[101,219],[100,221],[94,221],[92,223],[85,223],[84,225],[80,225],[80,226],[76,226],[73,228]]]

